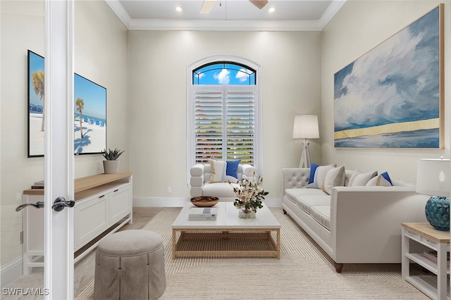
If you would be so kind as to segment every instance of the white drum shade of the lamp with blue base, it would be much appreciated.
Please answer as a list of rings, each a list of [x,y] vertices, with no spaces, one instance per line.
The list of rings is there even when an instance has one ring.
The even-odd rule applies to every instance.
[[[427,159],[418,161],[416,192],[429,196],[450,196],[450,160]]]

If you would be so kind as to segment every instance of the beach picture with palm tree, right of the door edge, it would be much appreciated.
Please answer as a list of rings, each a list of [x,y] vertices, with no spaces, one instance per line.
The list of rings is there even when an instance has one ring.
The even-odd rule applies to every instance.
[[[106,149],[106,88],[75,73],[74,151],[100,154]]]

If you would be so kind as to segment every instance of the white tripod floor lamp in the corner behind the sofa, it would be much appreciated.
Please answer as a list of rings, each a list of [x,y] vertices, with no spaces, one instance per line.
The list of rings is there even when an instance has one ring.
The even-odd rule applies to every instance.
[[[293,139],[304,139],[299,168],[310,168],[310,148],[307,139],[318,139],[318,117],[316,115],[296,115],[293,126]]]

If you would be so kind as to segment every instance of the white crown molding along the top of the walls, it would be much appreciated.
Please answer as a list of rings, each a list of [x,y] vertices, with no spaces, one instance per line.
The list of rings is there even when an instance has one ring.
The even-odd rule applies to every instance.
[[[333,0],[319,20],[149,20],[132,19],[118,0],[104,0],[128,30],[321,31],[347,0]]]

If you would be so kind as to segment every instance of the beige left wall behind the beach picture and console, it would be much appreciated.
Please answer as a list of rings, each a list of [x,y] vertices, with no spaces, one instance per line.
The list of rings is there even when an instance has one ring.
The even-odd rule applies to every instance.
[[[1,261],[22,254],[22,191],[44,177],[44,158],[27,158],[27,49],[44,54],[44,1],[0,1]],[[75,72],[107,89],[107,146],[125,149],[128,171],[128,30],[104,1],[75,2]],[[75,157],[75,177],[103,173],[103,156]]]

